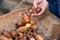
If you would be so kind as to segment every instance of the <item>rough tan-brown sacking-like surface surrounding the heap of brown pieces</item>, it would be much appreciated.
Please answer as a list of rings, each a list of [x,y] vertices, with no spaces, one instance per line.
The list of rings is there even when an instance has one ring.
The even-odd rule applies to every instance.
[[[27,7],[26,5],[22,6],[17,11],[0,16],[0,32],[3,29],[8,31],[14,30],[15,23],[21,21],[24,12],[30,15],[29,8],[20,10]],[[52,38],[55,38],[60,33],[60,19],[50,13],[48,9],[39,17],[30,17],[37,22],[36,25],[39,28],[37,32],[43,35],[45,40],[52,40]]]

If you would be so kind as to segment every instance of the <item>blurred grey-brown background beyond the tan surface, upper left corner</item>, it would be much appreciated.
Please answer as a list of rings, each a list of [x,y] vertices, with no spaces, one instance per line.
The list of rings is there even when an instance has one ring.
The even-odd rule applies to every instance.
[[[30,3],[26,3],[27,5],[33,2],[32,0],[0,0],[0,16],[13,11],[21,1],[30,2]],[[24,4],[20,6],[20,8],[26,6]]]

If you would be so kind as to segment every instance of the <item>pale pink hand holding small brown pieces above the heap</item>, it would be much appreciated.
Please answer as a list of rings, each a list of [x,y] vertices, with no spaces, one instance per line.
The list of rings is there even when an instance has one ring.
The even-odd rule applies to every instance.
[[[40,16],[48,6],[48,2],[46,0],[34,0],[33,7],[40,7],[41,11],[37,14],[32,14],[32,16]]]

